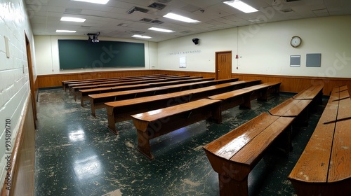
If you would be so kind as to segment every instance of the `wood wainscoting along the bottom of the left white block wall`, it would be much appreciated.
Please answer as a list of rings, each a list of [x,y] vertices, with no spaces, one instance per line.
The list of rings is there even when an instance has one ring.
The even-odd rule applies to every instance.
[[[29,93],[25,104],[25,115],[15,138],[11,154],[11,183],[6,179],[1,195],[34,195],[35,128],[32,95]],[[11,186],[8,190],[8,186]]]

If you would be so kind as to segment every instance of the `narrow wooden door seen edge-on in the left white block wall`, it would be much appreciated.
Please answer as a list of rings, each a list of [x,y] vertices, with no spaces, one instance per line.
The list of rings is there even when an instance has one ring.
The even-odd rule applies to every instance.
[[[34,128],[37,130],[37,104],[35,99],[35,90],[34,90],[34,74],[32,69],[32,52],[30,50],[30,43],[27,35],[25,34],[25,45],[27,49],[27,62],[28,62],[28,74],[29,74],[29,87],[30,93],[32,96],[32,106],[33,106],[33,117],[34,117]]]

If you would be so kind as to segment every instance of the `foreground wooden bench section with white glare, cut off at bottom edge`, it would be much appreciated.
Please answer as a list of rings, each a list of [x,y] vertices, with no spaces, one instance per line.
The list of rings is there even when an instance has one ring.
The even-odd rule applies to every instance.
[[[249,195],[249,173],[265,150],[274,141],[284,139],[283,148],[290,151],[293,119],[262,113],[204,146],[218,173],[220,195]]]

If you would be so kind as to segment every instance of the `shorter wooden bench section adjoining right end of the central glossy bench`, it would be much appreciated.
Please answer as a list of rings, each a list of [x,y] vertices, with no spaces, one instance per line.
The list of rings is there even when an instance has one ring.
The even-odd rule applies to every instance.
[[[222,94],[216,94],[208,98],[222,100],[223,102],[221,102],[220,106],[222,111],[231,109],[234,106],[251,109],[251,100],[258,99],[267,101],[267,94],[269,94],[269,92],[279,93],[280,84],[281,83],[263,83]]]

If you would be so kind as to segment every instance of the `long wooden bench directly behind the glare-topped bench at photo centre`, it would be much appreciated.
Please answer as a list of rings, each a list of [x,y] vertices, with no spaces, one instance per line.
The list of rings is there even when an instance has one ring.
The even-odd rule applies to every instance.
[[[260,80],[258,80],[258,82],[259,81]],[[232,83],[201,87],[194,90],[185,90],[149,97],[126,99],[118,102],[107,102],[105,103],[105,106],[107,108],[108,127],[112,132],[118,134],[116,130],[116,123],[124,120],[130,120],[131,115],[135,113],[142,113],[145,111],[161,109],[176,104],[183,104],[185,102],[190,102],[190,100],[194,101],[197,99],[204,99],[214,94],[245,87],[246,85],[251,85],[256,82],[257,80],[249,82],[241,80]]]

